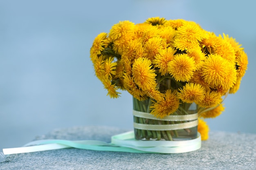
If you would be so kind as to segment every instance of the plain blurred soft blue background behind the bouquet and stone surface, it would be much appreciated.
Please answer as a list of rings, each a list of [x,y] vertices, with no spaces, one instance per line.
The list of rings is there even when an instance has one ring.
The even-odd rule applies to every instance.
[[[120,20],[183,18],[243,44],[249,69],[211,130],[256,133],[255,1],[1,0],[0,149],[19,147],[54,128],[132,129],[132,97],[110,99],[94,76],[92,42]]]

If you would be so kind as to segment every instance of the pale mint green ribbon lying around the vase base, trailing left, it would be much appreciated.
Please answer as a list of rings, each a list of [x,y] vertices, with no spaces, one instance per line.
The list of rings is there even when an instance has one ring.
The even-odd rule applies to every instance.
[[[34,146],[31,146],[34,145]],[[201,148],[201,136],[185,141],[140,141],[134,139],[134,132],[125,132],[111,137],[111,143],[96,140],[69,141],[46,139],[32,141],[20,148],[3,149],[4,155],[55,150],[63,148],[78,148],[99,151],[132,152],[132,153],[184,153]]]

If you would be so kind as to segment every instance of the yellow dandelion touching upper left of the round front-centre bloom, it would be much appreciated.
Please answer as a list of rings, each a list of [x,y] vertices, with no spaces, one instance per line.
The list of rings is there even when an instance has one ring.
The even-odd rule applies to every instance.
[[[159,54],[155,56],[155,60],[153,60],[153,64],[155,67],[159,68],[159,72],[161,75],[167,75],[168,73],[168,62],[173,60],[174,54],[176,53],[176,49],[167,48],[167,49],[159,49]]]

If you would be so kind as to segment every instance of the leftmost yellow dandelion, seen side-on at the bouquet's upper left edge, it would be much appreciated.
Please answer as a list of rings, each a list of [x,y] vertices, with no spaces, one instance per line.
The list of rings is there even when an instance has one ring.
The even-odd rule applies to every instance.
[[[100,33],[94,39],[92,43],[92,47],[90,49],[90,57],[92,61],[94,61],[95,57],[101,54],[101,51],[104,50],[104,45],[105,45],[104,40],[106,39],[107,35],[108,35],[107,33]]]

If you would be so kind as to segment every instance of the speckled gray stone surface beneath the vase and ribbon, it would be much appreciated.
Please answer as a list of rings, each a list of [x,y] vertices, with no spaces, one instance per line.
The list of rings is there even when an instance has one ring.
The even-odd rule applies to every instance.
[[[53,130],[36,139],[101,140],[128,130],[73,127]],[[182,154],[145,154],[60,149],[9,155],[1,170],[254,170],[256,134],[210,132],[202,148]]]

